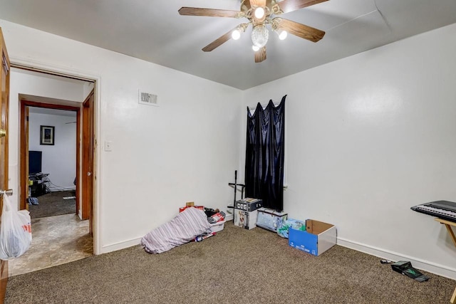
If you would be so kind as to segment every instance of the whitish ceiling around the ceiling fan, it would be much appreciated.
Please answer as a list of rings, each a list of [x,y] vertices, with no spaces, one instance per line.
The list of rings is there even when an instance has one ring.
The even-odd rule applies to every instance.
[[[182,6],[239,10],[239,0],[0,0],[0,19],[38,28],[239,89],[456,22],[456,0],[330,0],[283,18],[326,31],[318,43],[270,35],[254,63],[249,32],[201,49],[247,19],[180,16]],[[6,41],[8,43],[8,41]]]

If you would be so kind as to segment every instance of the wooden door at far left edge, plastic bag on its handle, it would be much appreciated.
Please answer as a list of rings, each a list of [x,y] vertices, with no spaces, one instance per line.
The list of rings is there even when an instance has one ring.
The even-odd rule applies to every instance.
[[[1,98],[0,98],[0,189],[8,189],[8,114],[9,114],[9,58],[6,52],[3,33],[0,28],[1,61]],[[3,198],[0,197],[0,214]],[[4,303],[6,282],[8,281],[8,261],[1,261],[0,268],[0,303]]]

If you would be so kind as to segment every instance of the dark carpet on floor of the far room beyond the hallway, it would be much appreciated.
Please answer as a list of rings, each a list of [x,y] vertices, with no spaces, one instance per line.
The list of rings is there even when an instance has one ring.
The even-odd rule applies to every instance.
[[[38,205],[28,205],[30,217],[37,219],[62,214],[76,214],[76,199],[63,199],[63,197],[74,195],[74,191],[60,191],[38,196]]]

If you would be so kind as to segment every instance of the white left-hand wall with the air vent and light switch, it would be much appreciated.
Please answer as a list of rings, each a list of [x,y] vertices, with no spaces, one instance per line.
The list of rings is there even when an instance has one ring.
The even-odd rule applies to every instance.
[[[95,253],[138,244],[186,201],[219,209],[232,202],[239,90],[8,21],[0,26],[13,63],[98,80]],[[160,107],[138,104],[140,88],[157,94]],[[18,116],[13,99],[10,116]],[[16,137],[17,120],[10,128]],[[107,140],[111,152],[103,150]],[[10,155],[17,149],[11,143]],[[18,170],[12,162],[10,172]],[[17,187],[17,173],[10,182]]]

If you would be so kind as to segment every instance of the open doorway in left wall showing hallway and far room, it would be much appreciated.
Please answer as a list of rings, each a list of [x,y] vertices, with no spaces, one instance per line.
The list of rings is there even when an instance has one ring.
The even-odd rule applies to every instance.
[[[83,140],[83,137],[88,138],[89,142],[93,142],[95,135],[93,127],[88,133],[81,126],[83,120],[86,120],[82,115],[83,102],[87,96],[93,96],[95,83],[36,70],[14,68],[14,71],[21,75],[24,74],[22,75],[24,78],[37,78],[40,89],[35,93],[27,88],[24,90],[26,93],[19,94],[19,204],[21,209],[31,211],[33,242],[28,251],[29,254],[26,253],[16,259],[17,261],[10,263],[10,276],[85,258],[93,254],[94,248],[90,229],[93,216],[83,218],[83,213],[87,212],[86,209],[93,209],[93,190],[84,191],[83,185],[86,182],[84,179],[92,180],[93,177],[92,174],[88,176],[87,172],[83,174],[81,171],[84,167],[83,162],[86,162],[83,153],[92,155],[94,153],[93,146],[87,147],[87,140]],[[20,77],[13,78],[13,81],[15,79],[20,79]],[[49,97],[49,95],[53,96],[52,93],[49,95],[43,93],[46,92],[43,90],[46,85],[56,85],[56,88],[52,89],[64,91],[71,96],[68,99]],[[81,89],[78,88],[78,85]],[[21,92],[20,90],[19,88],[19,92]],[[48,90],[52,91],[50,88]],[[75,98],[75,92],[78,93],[78,90],[81,90],[81,97]],[[43,120],[36,122],[33,121],[33,116],[53,116],[58,117],[60,121],[54,119],[53,122]],[[93,126],[93,119],[94,115],[91,113],[89,125]],[[68,148],[68,144],[65,147],[65,142],[69,140],[66,129],[71,126],[76,134],[73,137],[73,145]],[[35,141],[33,145],[31,145],[32,140]],[[63,156],[70,150],[74,156],[73,169],[63,169],[65,167],[65,164],[62,163]],[[30,172],[29,155],[31,154],[29,153],[31,151],[41,152],[42,167],[38,170],[41,172]],[[49,159],[53,159],[56,163],[50,165]],[[91,161],[93,162],[93,157]],[[93,167],[93,164],[90,164],[90,167]],[[33,170],[36,171],[36,167]],[[65,194],[58,193],[60,190],[66,191]],[[41,206],[44,201],[50,201],[50,204],[53,204],[53,198],[48,196],[56,196],[58,203],[64,204],[72,199],[75,202],[73,211],[33,218],[31,209],[40,206],[40,200]],[[30,198],[36,198],[37,201],[31,201]],[[37,258],[39,256],[41,258]]]

